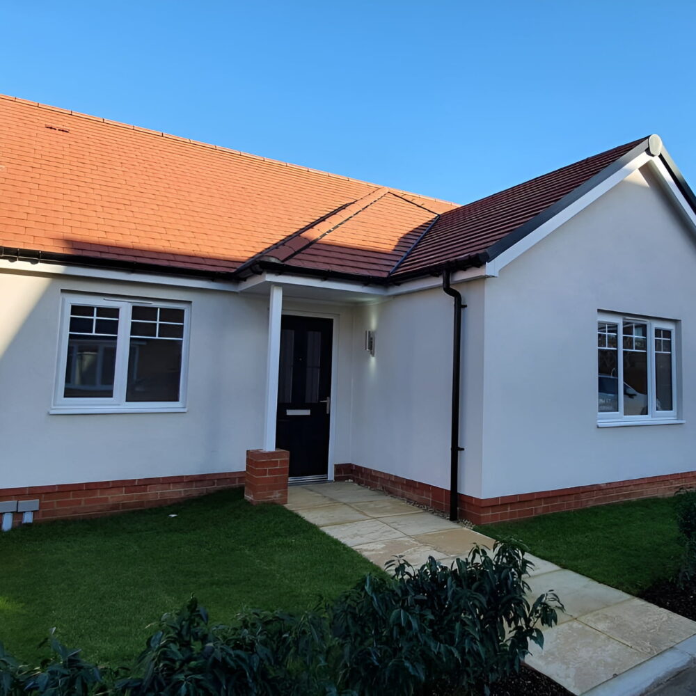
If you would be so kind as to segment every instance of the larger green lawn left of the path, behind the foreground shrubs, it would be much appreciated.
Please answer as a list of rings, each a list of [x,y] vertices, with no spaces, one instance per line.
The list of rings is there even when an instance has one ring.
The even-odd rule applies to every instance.
[[[176,517],[170,517],[176,514]],[[191,593],[212,622],[242,608],[303,610],[379,572],[278,505],[242,491],[0,535],[0,641],[24,661],[51,626],[93,662],[125,664],[148,624]]]

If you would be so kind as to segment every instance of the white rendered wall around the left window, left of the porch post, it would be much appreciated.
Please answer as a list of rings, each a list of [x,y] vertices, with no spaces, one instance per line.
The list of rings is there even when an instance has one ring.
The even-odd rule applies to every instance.
[[[190,301],[187,413],[49,415],[61,289]],[[244,470],[262,446],[267,312],[265,297],[3,268],[0,489]]]

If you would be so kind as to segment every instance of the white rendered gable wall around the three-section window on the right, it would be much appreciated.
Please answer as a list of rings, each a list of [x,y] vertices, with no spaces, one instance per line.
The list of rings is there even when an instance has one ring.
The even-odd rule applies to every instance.
[[[485,282],[483,498],[696,468],[696,245],[654,175]],[[686,424],[597,427],[598,310],[682,322]]]

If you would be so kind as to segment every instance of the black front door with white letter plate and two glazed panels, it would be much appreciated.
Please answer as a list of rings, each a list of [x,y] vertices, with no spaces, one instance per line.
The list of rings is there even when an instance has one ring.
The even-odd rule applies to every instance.
[[[326,475],[333,320],[284,315],[280,329],[276,447],[290,452],[290,476]]]

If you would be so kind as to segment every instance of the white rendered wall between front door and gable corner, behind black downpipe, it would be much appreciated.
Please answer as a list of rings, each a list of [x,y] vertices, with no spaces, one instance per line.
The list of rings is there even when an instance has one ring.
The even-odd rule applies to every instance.
[[[459,490],[480,495],[482,281],[461,284],[464,365]],[[448,489],[452,298],[442,290],[397,296],[354,310],[353,464]],[[375,332],[375,355],[364,350]]]

